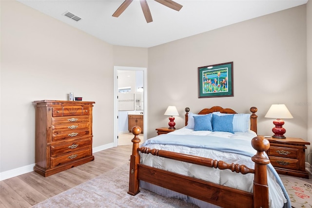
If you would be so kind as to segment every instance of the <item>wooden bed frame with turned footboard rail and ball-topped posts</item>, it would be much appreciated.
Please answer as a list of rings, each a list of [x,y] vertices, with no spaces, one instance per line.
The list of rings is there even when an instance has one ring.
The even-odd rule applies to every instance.
[[[188,112],[190,109],[185,108],[185,111],[185,125],[187,125]],[[214,106],[212,108],[205,108],[198,114],[208,114],[215,111],[219,111],[221,113],[236,113],[230,108]],[[255,114],[257,108],[251,107],[250,111],[252,112],[251,129],[257,132],[257,115]],[[270,143],[267,139],[263,137],[253,138],[252,146],[255,150],[257,150],[257,153],[252,157],[252,161],[254,161],[255,164],[254,169],[251,169],[244,165],[233,163],[227,164],[223,161],[217,161],[209,158],[165,150],[149,149],[147,147],[139,147],[140,139],[138,138],[138,135],[141,132],[140,127],[134,126],[132,132],[135,136],[132,139],[133,149],[130,159],[128,194],[136,195],[139,192],[139,181],[142,180],[224,208],[269,208],[267,164],[270,163],[270,160],[264,154],[264,152],[267,151],[270,147]],[[241,174],[254,173],[254,192],[250,193],[231,187],[225,187],[189,176],[140,164],[139,151],[142,153],[193,163],[201,166],[230,169],[232,172]]]

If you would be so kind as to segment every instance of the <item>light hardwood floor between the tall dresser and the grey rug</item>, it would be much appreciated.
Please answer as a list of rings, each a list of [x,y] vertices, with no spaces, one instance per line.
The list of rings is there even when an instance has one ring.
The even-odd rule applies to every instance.
[[[52,196],[127,163],[132,146],[94,153],[95,160],[49,177],[29,172],[0,181],[0,208],[30,208]]]

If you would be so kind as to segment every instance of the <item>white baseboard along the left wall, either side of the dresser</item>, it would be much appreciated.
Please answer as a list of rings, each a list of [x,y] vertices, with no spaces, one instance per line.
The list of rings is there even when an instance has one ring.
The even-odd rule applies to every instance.
[[[104,149],[108,149],[111,147],[114,147],[114,143],[94,147],[94,148],[92,148],[92,152],[99,152],[99,151],[102,151]],[[3,181],[3,180],[8,179],[8,178],[13,178],[15,176],[19,176],[19,175],[22,175],[25,173],[32,172],[32,171],[34,171],[34,166],[35,166],[35,164],[31,164],[28,166],[22,166],[22,167],[18,167],[18,168],[12,169],[12,170],[0,172],[0,181]]]

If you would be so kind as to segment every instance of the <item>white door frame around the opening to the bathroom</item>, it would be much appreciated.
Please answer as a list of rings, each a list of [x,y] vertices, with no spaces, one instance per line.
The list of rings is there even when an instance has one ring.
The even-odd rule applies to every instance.
[[[147,135],[147,68],[146,67],[130,67],[130,66],[114,66],[114,146],[118,146],[118,71],[143,71],[143,132]],[[144,137],[146,138],[146,137]],[[142,139],[142,138],[141,138]]]

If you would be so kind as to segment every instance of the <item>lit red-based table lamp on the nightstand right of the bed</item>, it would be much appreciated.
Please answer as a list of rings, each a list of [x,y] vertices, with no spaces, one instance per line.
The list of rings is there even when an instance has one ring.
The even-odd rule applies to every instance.
[[[283,128],[285,122],[282,119],[292,119],[292,114],[289,112],[285,104],[273,104],[268,110],[265,118],[275,118],[273,121],[275,127],[272,128],[273,138],[286,139],[284,136],[286,129]]]

